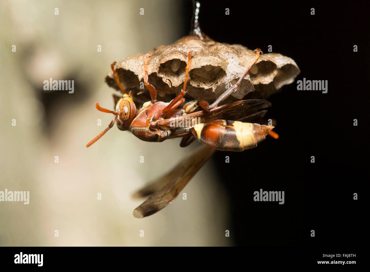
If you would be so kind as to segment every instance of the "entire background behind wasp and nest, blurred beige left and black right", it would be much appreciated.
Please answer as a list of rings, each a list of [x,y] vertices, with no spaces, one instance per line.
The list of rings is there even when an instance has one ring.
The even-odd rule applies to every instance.
[[[189,33],[192,2],[3,0],[0,191],[30,191],[30,204],[0,203],[0,245],[356,246],[363,241],[359,228],[366,225],[361,211],[366,198],[354,201],[353,194],[366,195],[368,176],[369,3],[200,2],[201,29],[209,37],[266,52],[272,45],[274,53],[295,60],[301,70],[296,81],[328,80],[328,93],[297,91],[296,82],[284,86],[269,97],[266,114],[277,120],[279,140],[266,138],[245,152],[216,152],[182,191],[186,201],[178,197],[157,214],[135,219],[132,211],[144,199],[131,199],[132,192],[171,169],[198,142],[188,148],[180,148],[179,140],[148,143],[113,127],[86,148],[111,121],[95,103],[113,106],[115,91],[104,83],[112,61]],[[74,93],[44,91],[49,78],[74,80]],[[254,202],[260,188],[285,191],[285,204]]]

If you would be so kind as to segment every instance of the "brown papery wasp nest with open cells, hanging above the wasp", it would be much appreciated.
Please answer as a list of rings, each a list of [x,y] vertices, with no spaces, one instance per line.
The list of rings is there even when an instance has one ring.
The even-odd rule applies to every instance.
[[[150,52],[148,74],[149,83],[157,89],[162,100],[169,100],[168,97],[172,99],[181,91],[189,51],[193,51],[193,54],[190,84],[186,88],[187,94],[197,100],[218,98],[238,81],[255,57],[253,50],[244,46],[218,43],[206,36],[204,39],[186,36],[168,46],[159,46]],[[144,84],[140,84],[143,81],[144,57],[145,54],[129,56],[115,68],[123,87],[134,94],[149,93],[146,87],[143,89]],[[276,53],[263,54],[232,97],[234,100],[242,99],[250,93],[249,97],[267,98],[283,85],[292,83],[299,72],[291,58]],[[112,71],[105,81],[119,90]]]

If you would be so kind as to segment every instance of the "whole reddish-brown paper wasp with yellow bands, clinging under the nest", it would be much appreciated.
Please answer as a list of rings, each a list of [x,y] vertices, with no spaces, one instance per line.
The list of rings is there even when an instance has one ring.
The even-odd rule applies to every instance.
[[[226,90],[214,103],[209,105],[206,101],[198,103],[194,100],[186,103],[182,108],[179,106],[185,102],[184,96],[192,51],[188,53],[182,91],[169,103],[157,102],[157,90],[148,82],[147,67],[150,54],[145,56],[144,84],[149,90],[151,101],[144,103],[140,110],[136,108],[131,91],[127,93],[122,87],[117,71],[114,69],[115,62],[111,64],[111,69],[123,95],[117,101],[115,111],[101,108],[96,103],[96,108],[99,111],[111,113],[114,118],[104,131],[86,145],[87,147],[112,128],[114,123],[117,123],[118,129],[129,130],[143,141],[162,142],[166,139],[182,138],[181,147],[186,147],[195,139],[206,145],[206,147],[196,150],[191,157],[179,164],[173,171],[135,194],[135,196],[153,194],[134,210],[136,218],[154,214],[168,205],[215,150],[243,151],[256,147],[267,134],[277,137],[277,134],[271,131],[272,126],[247,122],[262,118],[266,113],[266,110],[263,109],[270,107],[269,102],[265,100],[240,100],[218,106],[221,101],[236,91],[250,67],[258,60],[260,54],[263,54],[260,49],[256,49],[254,52],[256,53],[255,58],[246,67],[239,81]],[[201,110],[196,111],[198,106]],[[173,125],[185,120],[195,120],[194,118],[198,118],[200,122],[191,121],[184,127]]]

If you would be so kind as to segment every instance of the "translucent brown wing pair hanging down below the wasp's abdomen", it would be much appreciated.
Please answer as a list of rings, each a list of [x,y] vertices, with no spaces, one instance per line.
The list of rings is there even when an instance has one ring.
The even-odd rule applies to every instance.
[[[143,218],[155,214],[167,206],[214,152],[214,149],[207,146],[199,147],[190,157],[178,164],[171,172],[138,191],[134,196],[148,194],[154,189],[163,186],[134,210],[134,216],[136,218]],[[164,185],[165,182],[168,183]]]

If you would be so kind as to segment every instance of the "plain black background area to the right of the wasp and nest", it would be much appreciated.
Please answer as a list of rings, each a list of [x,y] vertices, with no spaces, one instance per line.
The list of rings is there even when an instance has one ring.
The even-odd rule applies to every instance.
[[[369,180],[368,4],[200,3],[200,26],[209,37],[266,53],[272,45],[301,70],[295,82],[268,99],[272,108],[265,117],[277,120],[278,140],[268,137],[252,150],[216,152],[212,158],[228,193],[235,244],[356,247]],[[191,6],[184,3],[185,18]],[[182,36],[189,29],[185,21]],[[304,77],[327,80],[328,92],[297,91]],[[285,191],[285,204],[253,201],[261,188]]]

